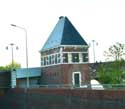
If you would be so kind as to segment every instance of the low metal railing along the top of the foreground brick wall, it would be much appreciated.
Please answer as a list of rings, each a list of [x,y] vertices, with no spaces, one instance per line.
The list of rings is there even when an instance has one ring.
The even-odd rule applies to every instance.
[[[125,84],[83,84],[75,86],[72,84],[52,84],[52,85],[30,85],[29,88],[70,88],[70,89],[92,89],[92,90],[125,90]]]

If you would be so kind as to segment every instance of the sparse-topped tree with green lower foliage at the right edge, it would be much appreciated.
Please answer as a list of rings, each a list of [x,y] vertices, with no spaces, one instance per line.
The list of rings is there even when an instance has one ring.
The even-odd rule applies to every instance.
[[[108,51],[104,51],[104,56],[108,59],[113,58],[112,62],[100,64],[97,69],[99,81],[103,84],[121,84],[125,77],[124,66],[124,44],[116,43],[109,47]]]

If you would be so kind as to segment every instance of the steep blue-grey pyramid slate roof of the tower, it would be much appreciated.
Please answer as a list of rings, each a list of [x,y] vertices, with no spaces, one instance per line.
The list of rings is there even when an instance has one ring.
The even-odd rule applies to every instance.
[[[63,16],[59,18],[59,21],[41,51],[55,48],[60,45],[87,45],[86,41],[75,29],[69,19]]]

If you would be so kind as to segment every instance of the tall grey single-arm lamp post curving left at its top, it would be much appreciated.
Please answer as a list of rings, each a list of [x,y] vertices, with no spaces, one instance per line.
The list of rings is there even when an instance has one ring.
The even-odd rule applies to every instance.
[[[15,24],[11,24],[11,26],[13,27],[17,27],[19,29],[22,29],[25,32],[25,43],[26,43],[26,68],[28,70],[28,46],[27,46],[27,30],[26,28],[23,28],[21,26],[15,25]],[[28,72],[28,71],[27,71]],[[27,73],[27,87],[29,87],[29,75]]]

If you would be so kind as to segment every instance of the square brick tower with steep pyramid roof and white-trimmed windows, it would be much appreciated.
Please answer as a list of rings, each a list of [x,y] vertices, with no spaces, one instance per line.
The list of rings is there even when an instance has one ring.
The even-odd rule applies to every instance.
[[[40,54],[43,85],[89,82],[88,45],[67,17],[59,17]]]

